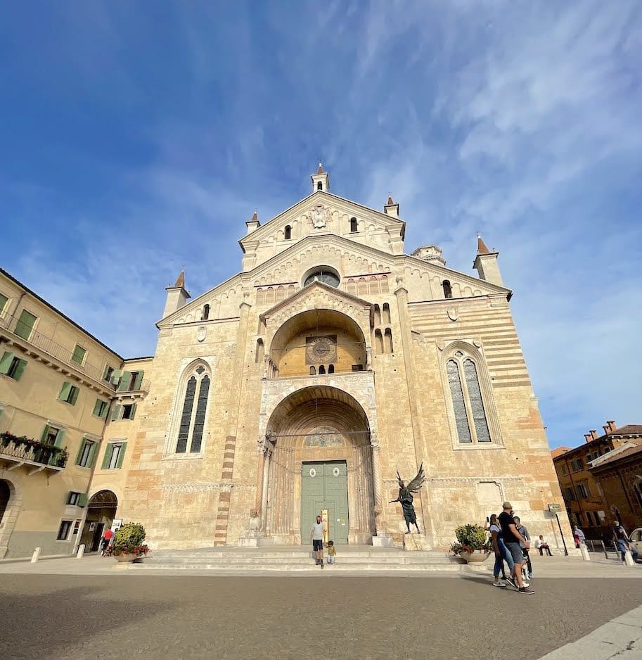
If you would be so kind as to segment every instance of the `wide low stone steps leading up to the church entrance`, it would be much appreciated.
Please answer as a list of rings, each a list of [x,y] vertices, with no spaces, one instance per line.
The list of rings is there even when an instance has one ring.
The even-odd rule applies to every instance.
[[[445,552],[405,552],[371,545],[338,546],[333,573],[420,573],[461,571],[467,566]],[[309,546],[210,547],[195,550],[155,550],[136,571],[216,571],[217,573],[312,573],[320,571]]]

